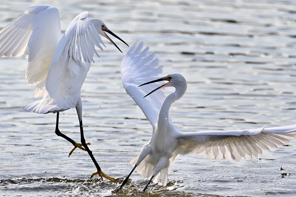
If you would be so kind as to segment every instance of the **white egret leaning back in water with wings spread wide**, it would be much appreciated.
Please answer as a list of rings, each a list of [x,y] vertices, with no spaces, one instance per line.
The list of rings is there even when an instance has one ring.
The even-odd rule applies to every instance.
[[[155,52],[147,55],[148,47],[141,51],[142,47],[143,43],[137,41],[123,58],[122,82],[126,92],[139,105],[152,124],[152,138],[143,146],[139,155],[131,159],[133,170],[123,180],[117,191],[127,183],[135,169],[149,179],[143,191],[151,181],[166,185],[168,167],[178,154],[196,154],[198,157],[207,155],[207,159],[215,157],[216,160],[224,158],[226,161],[232,158],[239,162],[242,158],[256,158],[270,150],[275,150],[296,137],[296,132],[290,133],[296,131],[296,124],[232,131],[181,132],[178,126],[173,124],[168,113],[170,106],[186,92],[186,80],[177,73],[155,79],[155,76],[162,72],[161,68],[157,67],[158,59],[154,59]],[[160,81],[166,81],[166,83],[160,86],[155,84]],[[142,84],[143,82],[147,83]],[[146,95],[147,84],[153,86],[154,90],[150,89],[151,92]],[[147,86],[139,88],[139,85]],[[150,95],[164,87],[175,87],[176,90],[166,98],[161,90]]]

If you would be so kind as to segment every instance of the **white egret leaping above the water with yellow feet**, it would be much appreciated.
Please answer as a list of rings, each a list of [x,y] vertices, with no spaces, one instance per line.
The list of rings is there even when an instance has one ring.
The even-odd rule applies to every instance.
[[[88,148],[82,125],[81,86],[91,61],[94,62],[94,54],[99,57],[95,46],[103,50],[100,35],[118,48],[105,32],[121,40],[100,19],[89,19],[88,12],[78,14],[62,35],[58,9],[33,6],[0,31],[0,57],[23,55],[28,58],[26,79],[34,87],[33,96],[42,98],[22,108],[28,112],[57,113],[55,133],[70,141],[74,149],[79,147],[88,152],[97,169],[91,177],[99,174],[114,181],[114,178],[102,172]],[[58,128],[59,112],[70,108],[76,108],[78,114],[81,144],[61,133]]]

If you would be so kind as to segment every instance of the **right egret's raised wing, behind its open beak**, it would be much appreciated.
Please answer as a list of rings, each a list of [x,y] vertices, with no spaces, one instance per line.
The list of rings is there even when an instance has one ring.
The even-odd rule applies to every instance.
[[[164,92],[161,89],[157,91],[157,94],[143,98],[147,93],[157,88],[159,84],[138,86],[156,79],[156,76],[162,73],[162,69],[158,67],[159,61],[158,58],[155,58],[155,52],[148,55],[149,48],[146,47],[143,51],[142,48],[143,42],[139,43],[137,40],[124,56],[121,63],[122,83],[126,92],[139,105],[146,118],[154,126],[165,99]]]

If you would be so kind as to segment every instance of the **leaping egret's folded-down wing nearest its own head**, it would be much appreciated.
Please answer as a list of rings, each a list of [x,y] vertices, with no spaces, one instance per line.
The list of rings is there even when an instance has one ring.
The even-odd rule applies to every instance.
[[[88,17],[88,12],[78,14],[62,36],[52,58],[46,79],[46,90],[51,97],[59,94],[59,84],[65,66],[73,65],[69,63],[71,61],[94,62],[94,54],[99,57],[95,45],[103,50],[100,43],[104,45],[99,33]],[[69,69],[74,73],[79,71],[77,66]]]

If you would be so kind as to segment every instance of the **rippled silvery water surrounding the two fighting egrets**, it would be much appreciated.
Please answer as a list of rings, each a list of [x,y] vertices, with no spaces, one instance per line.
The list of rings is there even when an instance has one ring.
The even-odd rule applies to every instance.
[[[0,27],[33,5],[48,1],[0,1]],[[132,45],[157,51],[164,74],[185,76],[188,89],[170,110],[182,131],[229,130],[295,123],[296,3],[294,1],[53,1],[62,30],[83,11],[102,19]],[[26,60],[0,59],[0,195],[2,196],[295,196],[296,141],[259,159],[208,161],[180,156],[166,187],[130,172],[129,160],[151,137],[152,127],[121,84],[123,51],[104,40],[82,87],[83,123],[90,149],[116,183],[90,180],[86,152],[54,133],[54,114],[21,107],[36,99],[25,81]],[[170,93],[172,89],[167,89]],[[79,141],[76,111],[60,115],[60,130]],[[279,170],[284,165],[283,172]],[[285,173],[288,173],[287,175]],[[281,178],[283,175],[283,178]]]

